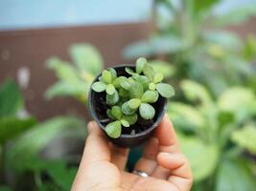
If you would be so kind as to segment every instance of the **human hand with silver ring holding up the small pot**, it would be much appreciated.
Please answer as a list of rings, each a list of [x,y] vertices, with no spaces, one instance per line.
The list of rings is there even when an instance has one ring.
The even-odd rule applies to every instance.
[[[189,163],[180,152],[175,129],[165,115],[145,147],[135,169],[149,177],[126,172],[128,149],[107,141],[95,122],[88,124],[80,168],[73,191],[189,191],[193,178]]]

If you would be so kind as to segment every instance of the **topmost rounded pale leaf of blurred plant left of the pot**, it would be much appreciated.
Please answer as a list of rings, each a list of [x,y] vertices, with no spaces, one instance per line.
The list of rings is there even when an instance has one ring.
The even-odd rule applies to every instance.
[[[103,57],[92,45],[75,44],[71,46],[69,53],[80,70],[90,74],[99,74],[103,70]]]

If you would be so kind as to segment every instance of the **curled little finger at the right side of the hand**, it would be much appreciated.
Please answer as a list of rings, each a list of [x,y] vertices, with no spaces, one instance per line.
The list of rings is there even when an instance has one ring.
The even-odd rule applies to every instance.
[[[168,180],[175,184],[179,190],[189,191],[193,178],[187,159],[181,153],[159,153],[158,163],[169,169],[172,173]]]

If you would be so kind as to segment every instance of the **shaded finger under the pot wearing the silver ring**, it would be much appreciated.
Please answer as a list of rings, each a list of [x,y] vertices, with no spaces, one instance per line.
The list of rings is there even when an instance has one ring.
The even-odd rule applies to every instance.
[[[139,159],[135,165],[135,170],[140,170],[148,175],[151,175],[155,167],[157,166],[156,156],[158,154],[158,140],[151,138],[147,146],[145,147],[143,156]]]

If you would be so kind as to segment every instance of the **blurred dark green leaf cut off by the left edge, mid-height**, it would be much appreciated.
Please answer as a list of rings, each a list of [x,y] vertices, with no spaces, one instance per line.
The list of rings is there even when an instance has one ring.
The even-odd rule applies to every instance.
[[[6,80],[0,86],[0,117],[15,115],[24,107],[21,92],[13,80]]]

